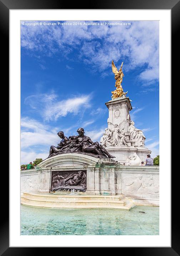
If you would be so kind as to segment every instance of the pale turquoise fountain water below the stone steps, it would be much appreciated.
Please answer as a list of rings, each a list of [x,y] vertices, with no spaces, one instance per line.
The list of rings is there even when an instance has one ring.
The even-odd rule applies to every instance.
[[[21,235],[159,235],[159,207],[127,211],[21,205]]]

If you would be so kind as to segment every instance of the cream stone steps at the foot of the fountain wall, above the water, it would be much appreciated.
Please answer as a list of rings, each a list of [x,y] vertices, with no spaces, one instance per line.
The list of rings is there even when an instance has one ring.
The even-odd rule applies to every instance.
[[[134,204],[120,196],[96,195],[40,195],[36,193],[23,193],[21,204],[46,208],[114,208],[129,210]]]

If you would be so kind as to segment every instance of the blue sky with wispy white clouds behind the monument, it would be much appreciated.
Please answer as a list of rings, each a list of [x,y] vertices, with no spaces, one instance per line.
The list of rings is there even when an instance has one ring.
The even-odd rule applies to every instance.
[[[115,89],[112,60],[118,69],[124,62],[122,87],[132,100],[131,119],[144,131],[151,156],[159,154],[159,21],[24,22],[40,21],[21,22],[21,163],[45,159],[60,142],[58,131],[68,137],[83,127],[93,141],[100,140],[107,127],[105,102]]]

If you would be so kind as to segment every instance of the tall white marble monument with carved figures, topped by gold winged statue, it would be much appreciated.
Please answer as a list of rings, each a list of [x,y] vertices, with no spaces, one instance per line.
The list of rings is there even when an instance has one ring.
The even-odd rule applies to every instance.
[[[112,92],[112,100],[105,103],[109,110],[108,127],[100,142],[111,155],[115,156],[116,161],[127,165],[140,165],[142,161],[145,162],[147,154],[151,151],[145,147],[146,138],[143,131],[137,129],[130,118],[132,105],[121,85],[124,76],[122,65],[118,71],[112,61],[112,71],[115,74],[117,89]]]

